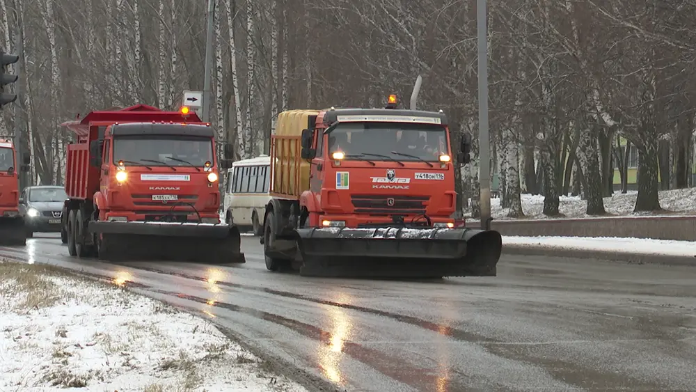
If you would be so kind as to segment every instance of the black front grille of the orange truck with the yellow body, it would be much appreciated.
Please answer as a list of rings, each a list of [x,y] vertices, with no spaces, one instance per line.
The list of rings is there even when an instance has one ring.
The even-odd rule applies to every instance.
[[[415,215],[425,214],[430,196],[351,195],[356,214]]]

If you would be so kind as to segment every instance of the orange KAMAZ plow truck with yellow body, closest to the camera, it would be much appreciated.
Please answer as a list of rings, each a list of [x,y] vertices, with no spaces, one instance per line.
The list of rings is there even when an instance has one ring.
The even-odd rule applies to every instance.
[[[290,110],[271,138],[266,267],[303,276],[496,276],[502,237],[454,228],[450,131],[442,112]],[[470,138],[460,161],[468,162]]]

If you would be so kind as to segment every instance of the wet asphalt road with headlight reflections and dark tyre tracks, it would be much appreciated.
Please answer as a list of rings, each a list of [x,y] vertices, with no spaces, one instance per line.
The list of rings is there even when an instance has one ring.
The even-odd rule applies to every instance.
[[[0,257],[127,282],[347,391],[696,391],[696,267],[503,256],[497,277],[310,279],[242,246],[241,266],[77,260],[49,236]]]

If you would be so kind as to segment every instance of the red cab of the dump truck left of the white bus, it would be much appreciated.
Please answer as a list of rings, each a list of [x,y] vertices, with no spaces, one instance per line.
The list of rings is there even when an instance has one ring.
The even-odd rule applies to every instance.
[[[109,125],[90,148],[100,221],[218,224],[214,132],[206,124]]]

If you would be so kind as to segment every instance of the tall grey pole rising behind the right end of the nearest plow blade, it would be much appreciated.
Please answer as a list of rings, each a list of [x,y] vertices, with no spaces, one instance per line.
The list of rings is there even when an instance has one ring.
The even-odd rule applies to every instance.
[[[486,0],[476,1],[479,84],[479,184],[481,228],[491,229],[491,138],[488,129],[488,31]]]

